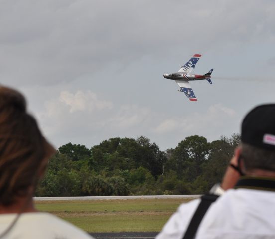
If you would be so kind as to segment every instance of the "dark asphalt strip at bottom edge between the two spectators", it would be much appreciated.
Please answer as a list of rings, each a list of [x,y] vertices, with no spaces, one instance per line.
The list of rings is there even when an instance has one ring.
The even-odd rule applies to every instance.
[[[154,239],[158,232],[89,233],[96,239]]]

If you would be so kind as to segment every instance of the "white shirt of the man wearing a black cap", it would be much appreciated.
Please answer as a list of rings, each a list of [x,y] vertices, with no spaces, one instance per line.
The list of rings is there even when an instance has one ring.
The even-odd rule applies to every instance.
[[[181,239],[200,199],[179,206],[156,239]],[[275,239],[275,192],[230,189],[212,203],[196,239]]]

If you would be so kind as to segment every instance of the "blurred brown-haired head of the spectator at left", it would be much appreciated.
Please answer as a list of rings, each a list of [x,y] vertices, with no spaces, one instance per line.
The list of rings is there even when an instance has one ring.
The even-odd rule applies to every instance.
[[[0,205],[31,198],[54,148],[18,91],[0,86]]]

